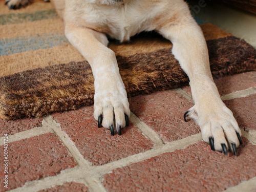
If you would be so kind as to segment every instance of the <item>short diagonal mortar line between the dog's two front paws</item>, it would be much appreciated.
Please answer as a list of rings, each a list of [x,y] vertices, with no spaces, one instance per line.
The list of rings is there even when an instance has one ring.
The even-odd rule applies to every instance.
[[[138,129],[149,138],[151,141],[155,143],[155,146],[161,146],[163,145],[162,139],[159,137],[159,135],[153,131],[149,126],[147,126],[143,121],[141,121],[135,114],[131,112],[130,116],[131,122],[138,127]]]

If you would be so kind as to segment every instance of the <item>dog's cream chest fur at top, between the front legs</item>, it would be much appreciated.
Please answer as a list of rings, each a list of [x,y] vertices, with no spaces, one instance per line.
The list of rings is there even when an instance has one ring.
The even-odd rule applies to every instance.
[[[166,1],[169,3],[165,5],[152,0],[154,6],[148,6],[148,1],[145,1],[127,0],[118,5],[81,3],[79,1],[79,6],[70,6],[71,1],[66,1],[65,20],[73,24],[75,22],[78,27],[105,33],[121,42],[127,41],[141,31],[154,30],[156,24],[152,21],[163,14],[166,6],[170,6],[170,1]],[[72,1],[72,4],[76,4],[76,2]]]

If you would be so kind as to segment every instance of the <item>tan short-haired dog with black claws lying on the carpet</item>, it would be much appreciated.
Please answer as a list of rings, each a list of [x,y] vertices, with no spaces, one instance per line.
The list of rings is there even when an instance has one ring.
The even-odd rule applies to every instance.
[[[7,0],[9,8],[30,0]],[[53,0],[52,0],[53,1]],[[108,38],[127,41],[142,31],[156,31],[173,43],[172,53],[189,77],[195,105],[185,114],[199,124],[211,150],[237,155],[241,131],[222,102],[212,79],[206,41],[183,0],[54,0],[65,35],[87,59],[94,76],[94,118],[98,127],[116,131],[129,125],[130,109],[115,53]]]

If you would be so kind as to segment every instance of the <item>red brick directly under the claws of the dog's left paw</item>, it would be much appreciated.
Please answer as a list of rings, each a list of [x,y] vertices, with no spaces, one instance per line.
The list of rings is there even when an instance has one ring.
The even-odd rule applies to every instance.
[[[52,117],[61,124],[61,129],[69,135],[83,157],[93,165],[116,161],[153,147],[153,143],[132,123],[122,130],[121,136],[111,136],[110,130],[98,128],[93,118],[93,106],[56,113]]]

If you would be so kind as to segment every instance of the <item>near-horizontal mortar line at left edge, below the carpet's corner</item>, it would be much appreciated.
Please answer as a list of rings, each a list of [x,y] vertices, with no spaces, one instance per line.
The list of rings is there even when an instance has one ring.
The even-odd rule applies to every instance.
[[[46,123],[46,121],[42,120],[42,126],[41,127],[34,127],[31,130],[23,131],[16,133],[14,135],[8,135],[8,143],[19,141],[22,139],[28,139],[34,136],[46,134],[46,133],[53,133],[52,127]],[[0,138],[0,145],[4,144],[4,137]]]

